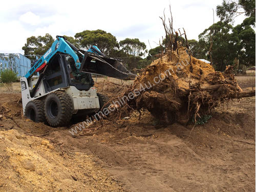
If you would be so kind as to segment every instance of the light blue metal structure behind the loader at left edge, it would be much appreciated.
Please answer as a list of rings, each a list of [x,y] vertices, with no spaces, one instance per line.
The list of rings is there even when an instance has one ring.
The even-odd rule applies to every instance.
[[[0,71],[11,69],[23,77],[31,68],[31,60],[20,53],[0,53]]]

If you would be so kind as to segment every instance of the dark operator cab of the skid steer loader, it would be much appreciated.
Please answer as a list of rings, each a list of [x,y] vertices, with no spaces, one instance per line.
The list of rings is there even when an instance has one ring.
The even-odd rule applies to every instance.
[[[75,61],[69,54],[56,54],[48,63],[44,86],[47,92],[57,88],[74,86],[80,91],[88,91],[94,86],[90,73],[77,72]]]

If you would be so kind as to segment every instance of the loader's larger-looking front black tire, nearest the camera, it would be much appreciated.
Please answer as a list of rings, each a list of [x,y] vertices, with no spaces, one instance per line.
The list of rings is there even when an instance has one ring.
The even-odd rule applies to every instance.
[[[45,114],[50,126],[66,125],[70,122],[73,112],[73,100],[67,93],[56,91],[46,97]]]

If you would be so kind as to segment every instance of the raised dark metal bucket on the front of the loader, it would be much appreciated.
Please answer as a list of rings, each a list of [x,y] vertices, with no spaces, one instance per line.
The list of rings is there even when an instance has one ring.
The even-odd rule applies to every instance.
[[[124,80],[135,79],[136,75],[127,71],[120,62],[122,60],[117,58],[85,52],[80,72],[94,73]]]

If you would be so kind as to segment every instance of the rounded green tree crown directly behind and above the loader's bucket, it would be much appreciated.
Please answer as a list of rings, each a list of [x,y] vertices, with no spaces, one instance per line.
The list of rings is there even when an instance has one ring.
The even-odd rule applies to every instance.
[[[97,46],[106,55],[110,55],[114,49],[119,48],[116,37],[100,29],[76,33],[75,38],[78,40],[77,42],[81,48],[89,49],[91,46]]]

